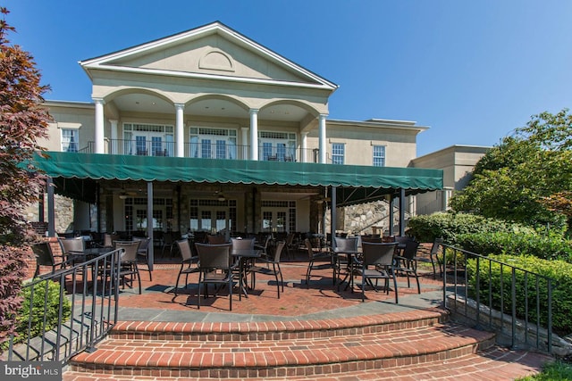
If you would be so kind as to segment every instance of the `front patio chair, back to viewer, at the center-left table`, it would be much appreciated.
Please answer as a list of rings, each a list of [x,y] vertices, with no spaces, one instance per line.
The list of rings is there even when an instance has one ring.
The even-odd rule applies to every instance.
[[[198,309],[200,310],[201,288],[208,297],[208,285],[229,288],[229,310],[232,311],[232,288],[234,268],[231,266],[231,244],[195,244],[198,253]]]

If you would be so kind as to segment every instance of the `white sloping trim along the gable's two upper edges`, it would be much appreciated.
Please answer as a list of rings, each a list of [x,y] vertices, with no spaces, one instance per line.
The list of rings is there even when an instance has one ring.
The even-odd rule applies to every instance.
[[[173,34],[173,35],[168,36],[168,37],[158,38],[158,39],[149,41],[147,43],[139,44],[137,46],[130,46],[128,48],[125,48],[125,49],[122,49],[119,51],[115,51],[114,53],[111,53],[111,54],[100,55],[100,56],[97,56],[95,58],[90,58],[88,60],[80,61],[78,63],[80,63],[81,67],[84,70],[86,70],[86,72],[88,73],[88,76],[91,78],[91,76],[89,75],[88,69],[97,69],[97,68],[110,69],[108,66],[105,65],[105,62],[107,62],[109,60],[122,58],[124,56],[129,55],[129,54],[136,53],[137,51],[142,50],[142,49],[153,49],[156,46],[162,46],[162,45],[168,45],[168,44],[176,43],[178,41],[184,40],[185,38],[198,36],[201,34],[210,34],[210,33],[218,33],[218,32],[223,32],[223,33],[227,34],[228,36],[234,37],[235,39],[240,41],[240,43],[242,45],[247,46],[250,49],[258,50],[258,51],[262,52],[263,54],[266,54],[267,56],[272,58],[274,61],[280,62],[282,65],[289,67],[290,69],[297,70],[297,71],[303,73],[308,78],[314,79],[316,82],[321,83],[322,84],[321,87],[330,88],[332,90],[332,92],[335,91],[339,87],[338,85],[336,85],[332,81],[330,81],[328,79],[324,79],[323,77],[315,74],[315,72],[313,72],[311,70],[307,70],[306,68],[300,66],[298,63],[290,61],[289,59],[285,58],[281,54],[277,54],[273,50],[271,50],[271,49],[269,49],[269,48],[267,48],[261,44],[258,44],[256,41],[242,35],[240,32],[238,32],[234,29],[231,29],[230,27],[224,25],[220,21],[214,21],[212,23],[203,25],[203,26],[195,28],[195,29],[189,29],[189,30],[186,30],[186,31],[183,31],[180,33]],[[115,69],[117,69],[117,68],[115,68]],[[156,71],[153,71],[153,72],[156,72]],[[174,73],[180,74],[179,72],[172,72],[172,74],[174,74]],[[223,77],[223,76],[222,76],[222,78],[228,79],[228,77]]]

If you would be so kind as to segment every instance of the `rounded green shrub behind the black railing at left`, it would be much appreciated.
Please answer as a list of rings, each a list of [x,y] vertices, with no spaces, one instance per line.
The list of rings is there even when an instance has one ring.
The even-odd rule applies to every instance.
[[[20,311],[16,316],[16,335],[14,344],[23,343],[28,339],[27,332],[30,327],[31,337],[41,335],[43,331],[49,331],[58,324],[58,314],[60,308],[60,284],[47,280],[38,282],[33,286],[34,300],[30,301],[32,287],[22,288],[23,302]],[[46,296],[47,294],[47,296]],[[46,308],[44,303],[46,302]],[[67,321],[71,316],[71,302],[63,297],[62,300],[62,321]],[[46,319],[46,325],[44,325]],[[4,344],[8,344],[7,342]]]

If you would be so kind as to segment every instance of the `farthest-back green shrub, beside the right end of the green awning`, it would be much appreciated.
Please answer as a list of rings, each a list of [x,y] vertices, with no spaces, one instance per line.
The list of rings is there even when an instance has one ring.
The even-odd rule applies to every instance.
[[[408,235],[419,242],[433,242],[442,237],[445,243],[456,244],[459,235],[484,232],[534,231],[532,228],[511,224],[501,219],[486,219],[467,213],[434,213],[408,220]]]

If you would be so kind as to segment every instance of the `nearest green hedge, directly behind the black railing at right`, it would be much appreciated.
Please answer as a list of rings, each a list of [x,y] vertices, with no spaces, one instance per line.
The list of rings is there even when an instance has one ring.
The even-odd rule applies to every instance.
[[[490,255],[490,259],[508,263],[518,269],[540,274],[543,277],[550,277],[552,281],[552,328],[560,335],[572,333],[572,264],[565,261],[546,261],[530,255]],[[512,272],[509,266],[501,266],[500,263],[481,260],[479,266],[479,289],[481,290],[481,302],[488,303],[489,286],[492,290],[492,308],[501,311],[501,295],[503,297],[503,312],[511,314],[512,305],[511,288]],[[501,270],[502,269],[502,270]],[[476,287],[476,260],[467,261],[467,272],[469,279],[469,296],[475,298]],[[516,309],[517,318],[526,319],[526,308],[528,309],[528,321],[536,323],[540,319],[540,324],[547,327],[548,322],[548,283],[543,277],[534,277],[532,274],[525,275],[526,272],[517,270],[516,278]],[[502,282],[501,282],[502,278]],[[489,279],[491,279],[489,283]],[[540,316],[536,310],[536,282],[538,281],[538,298]],[[526,293],[527,291],[527,293]],[[526,300],[526,294],[528,300]]]

